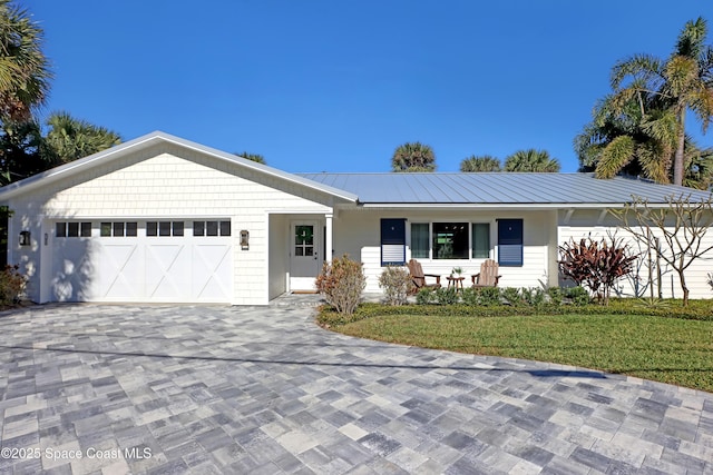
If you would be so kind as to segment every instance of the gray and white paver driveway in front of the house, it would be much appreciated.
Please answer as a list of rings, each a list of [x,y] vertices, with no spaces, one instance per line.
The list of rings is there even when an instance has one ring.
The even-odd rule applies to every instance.
[[[0,314],[0,473],[707,473],[713,395],[360,340],[313,309]]]

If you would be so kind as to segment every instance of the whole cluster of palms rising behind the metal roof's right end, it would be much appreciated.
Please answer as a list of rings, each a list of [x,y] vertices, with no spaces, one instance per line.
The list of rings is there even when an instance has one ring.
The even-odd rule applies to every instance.
[[[613,92],[574,141],[582,171],[617,174],[656,182],[711,186],[713,150],[685,133],[693,111],[705,132],[713,117],[713,48],[703,18],[688,21],[667,60],[636,55],[612,69]]]

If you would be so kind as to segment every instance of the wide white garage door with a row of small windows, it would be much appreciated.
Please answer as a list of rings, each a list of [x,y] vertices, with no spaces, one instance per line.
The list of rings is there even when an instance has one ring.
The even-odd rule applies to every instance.
[[[229,220],[56,222],[52,299],[229,303]]]

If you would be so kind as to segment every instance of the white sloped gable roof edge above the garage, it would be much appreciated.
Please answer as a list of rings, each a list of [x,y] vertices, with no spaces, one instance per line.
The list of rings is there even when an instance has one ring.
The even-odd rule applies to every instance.
[[[64,179],[66,177],[72,176],[75,174],[79,174],[92,167],[104,165],[107,161],[126,157],[127,155],[135,154],[137,151],[144,150],[148,147],[153,147],[159,144],[173,144],[175,146],[178,146],[185,149],[198,151],[198,152],[215,157],[217,159],[225,160],[237,167],[244,167],[246,169],[260,171],[267,176],[276,177],[289,182],[297,184],[306,188],[322,191],[328,195],[332,195],[336,198],[341,198],[348,201],[356,201],[356,196],[352,195],[349,191],[333,188],[326,184],[312,181],[305,177],[300,177],[297,175],[277,170],[276,168],[257,164],[252,160],[247,160],[245,158],[235,156],[233,154],[228,154],[228,152],[217,150],[211,147],[206,147],[196,142],[192,142],[189,140],[185,140],[179,137],[175,137],[162,131],[147,133],[134,140],[129,140],[127,142],[102,150],[98,154],[90,155],[89,157],[70,161],[69,164],[61,165],[59,167],[52,168],[50,170],[43,171],[32,177],[26,178],[23,180],[16,181],[13,184],[4,186],[0,188],[0,200],[9,199],[17,195],[31,191],[32,189],[36,189],[49,182]]]

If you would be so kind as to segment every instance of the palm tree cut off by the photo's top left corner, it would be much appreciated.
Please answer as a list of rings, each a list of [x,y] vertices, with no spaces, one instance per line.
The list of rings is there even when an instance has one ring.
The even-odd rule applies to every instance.
[[[43,32],[30,14],[0,0],[0,120],[25,121],[43,103],[52,75],[41,50]]]

